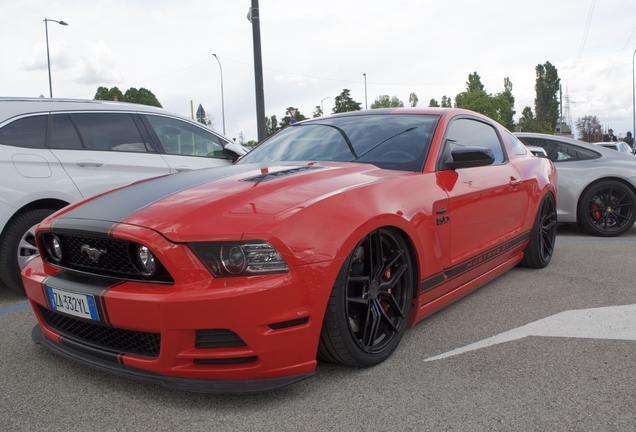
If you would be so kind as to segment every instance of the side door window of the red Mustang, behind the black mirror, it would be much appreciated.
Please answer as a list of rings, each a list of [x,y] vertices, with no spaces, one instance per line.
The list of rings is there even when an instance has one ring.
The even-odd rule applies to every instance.
[[[455,147],[485,147],[495,155],[494,164],[504,162],[504,153],[495,129],[477,120],[458,119],[450,124],[446,132],[448,156]]]

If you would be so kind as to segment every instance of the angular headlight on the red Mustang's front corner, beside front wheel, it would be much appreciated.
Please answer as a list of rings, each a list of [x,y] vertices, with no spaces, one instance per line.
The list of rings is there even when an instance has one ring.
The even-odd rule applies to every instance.
[[[284,273],[282,255],[265,241],[200,242],[190,247],[215,277]]]

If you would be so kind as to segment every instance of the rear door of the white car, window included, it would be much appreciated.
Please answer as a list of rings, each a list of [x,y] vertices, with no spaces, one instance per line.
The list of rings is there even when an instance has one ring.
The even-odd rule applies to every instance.
[[[135,114],[52,114],[47,145],[84,197],[170,173]],[[79,134],[78,134],[79,133]]]

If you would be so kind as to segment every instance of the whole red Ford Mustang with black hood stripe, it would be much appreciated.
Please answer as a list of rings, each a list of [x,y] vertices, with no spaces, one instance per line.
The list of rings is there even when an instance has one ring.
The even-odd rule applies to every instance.
[[[545,267],[556,172],[456,109],[292,125],[236,165],[69,206],[22,273],[33,340],[203,392],[278,388],[316,359],[372,366],[407,327],[523,264]]]

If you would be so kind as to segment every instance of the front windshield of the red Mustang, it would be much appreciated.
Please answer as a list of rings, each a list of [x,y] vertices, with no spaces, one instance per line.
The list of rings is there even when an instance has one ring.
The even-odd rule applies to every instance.
[[[289,126],[238,163],[341,161],[421,172],[439,116],[352,115]]]

